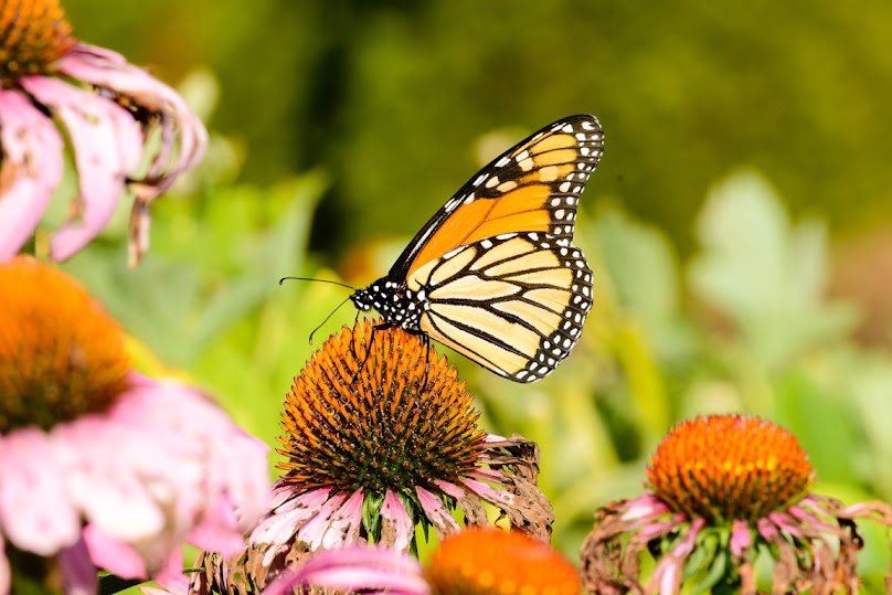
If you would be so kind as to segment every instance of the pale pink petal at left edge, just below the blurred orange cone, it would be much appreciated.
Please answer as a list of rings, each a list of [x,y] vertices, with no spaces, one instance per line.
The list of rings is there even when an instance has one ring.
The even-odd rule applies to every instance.
[[[0,527],[15,548],[50,556],[77,541],[81,522],[64,477],[42,431],[0,437]]]

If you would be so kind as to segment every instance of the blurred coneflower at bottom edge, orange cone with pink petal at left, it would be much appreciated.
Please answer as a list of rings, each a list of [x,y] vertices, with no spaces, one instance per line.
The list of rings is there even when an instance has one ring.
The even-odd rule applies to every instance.
[[[580,576],[561,554],[519,531],[467,529],[447,536],[425,567],[384,548],[349,546],[310,556],[264,589],[295,587],[401,595],[578,595]]]

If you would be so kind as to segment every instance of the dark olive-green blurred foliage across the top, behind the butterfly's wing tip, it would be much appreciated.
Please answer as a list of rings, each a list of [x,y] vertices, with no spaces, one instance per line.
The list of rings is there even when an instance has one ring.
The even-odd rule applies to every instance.
[[[82,39],[169,79],[216,73],[212,125],[249,147],[245,181],[323,164],[320,248],[411,234],[480,164],[469,139],[578,111],[604,124],[599,191],[684,254],[707,188],[741,164],[835,225],[892,214],[882,0],[64,4]]]

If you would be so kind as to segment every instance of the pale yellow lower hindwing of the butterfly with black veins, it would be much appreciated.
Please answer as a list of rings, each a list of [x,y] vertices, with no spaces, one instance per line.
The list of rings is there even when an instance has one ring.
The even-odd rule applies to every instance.
[[[576,344],[592,306],[592,270],[560,240],[502,234],[425,264],[407,283],[428,299],[421,330],[516,382],[544,378]]]

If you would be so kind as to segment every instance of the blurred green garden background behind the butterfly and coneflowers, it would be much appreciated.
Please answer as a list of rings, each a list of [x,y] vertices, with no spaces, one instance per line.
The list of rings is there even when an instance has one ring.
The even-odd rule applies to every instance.
[[[450,357],[488,431],[541,444],[558,545],[575,560],[666,431],[711,412],[792,429],[817,491],[892,499],[889,2],[63,6],[212,132],[153,205],[139,269],[124,212],[65,267],[145,368],[248,431],[273,442],[309,331],[346,297],[279,277],[376,278],[479,166],[582,111],[606,146],[576,232],[596,272],[580,346],[532,386]],[[879,585],[888,546],[868,538]]]

